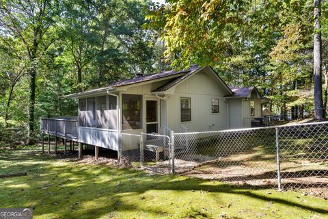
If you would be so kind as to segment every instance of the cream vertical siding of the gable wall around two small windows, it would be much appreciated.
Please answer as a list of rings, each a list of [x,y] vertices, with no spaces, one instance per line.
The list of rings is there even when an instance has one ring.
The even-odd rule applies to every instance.
[[[180,124],[189,131],[215,131],[228,128],[227,103],[223,85],[217,83],[214,75],[197,73],[178,84],[174,95],[167,100],[167,126],[180,132]],[[191,98],[191,121],[181,122],[180,98]],[[213,114],[211,100],[219,99],[219,113]]]

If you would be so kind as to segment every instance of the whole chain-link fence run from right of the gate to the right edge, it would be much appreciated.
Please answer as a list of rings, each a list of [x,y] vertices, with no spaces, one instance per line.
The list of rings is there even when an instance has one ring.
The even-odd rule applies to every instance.
[[[174,169],[288,190],[328,188],[328,123],[174,133]]]

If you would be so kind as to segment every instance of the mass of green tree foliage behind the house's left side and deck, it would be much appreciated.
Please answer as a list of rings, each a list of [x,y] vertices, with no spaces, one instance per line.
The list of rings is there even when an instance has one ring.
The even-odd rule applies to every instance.
[[[34,120],[38,135],[38,118],[77,115],[77,102],[63,99],[65,94],[153,73],[156,33],[142,27],[148,5],[148,0],[0,1],[5,127],[16,127],[9,121]],[[31,103],[34,114],[29,114]]]

